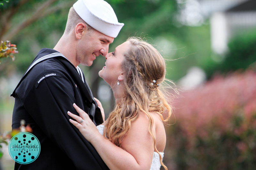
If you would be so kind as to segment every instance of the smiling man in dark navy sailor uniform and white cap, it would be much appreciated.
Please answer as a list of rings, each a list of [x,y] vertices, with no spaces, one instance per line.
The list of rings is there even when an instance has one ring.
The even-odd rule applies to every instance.
[[[111,6],[103,0],[78,0],[70,8],[65,32],[53,49],[43,48],[28,67],[11,96],[15,97],[12,128],[20,120],[30,124],[41,145],[38,158],[29,164],[15,162],[14,169],[108,169],[99,154],[68,120],[78,113],[76,103],[95,125],[103,122],[84,74],[87,66],[108,53],[121,30]]]

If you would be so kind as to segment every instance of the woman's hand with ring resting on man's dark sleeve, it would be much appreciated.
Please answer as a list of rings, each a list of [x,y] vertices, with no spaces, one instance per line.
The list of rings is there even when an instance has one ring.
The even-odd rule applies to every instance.
[[[72,119],[69,119],[69,121],[74,126],[76,126],[76,128],[81,132],[84,138],[91,143],[92,140],[97,140],[97,137],[102,137],[102,135],[100,135],[98,129],[90,119],[89,115],[85,113],[82,109],[80,109],[75,103],[73,104],[73,107],[76,109],[80,116],[74,115],[68,111],[68,115],[76,120],[74,121]]]

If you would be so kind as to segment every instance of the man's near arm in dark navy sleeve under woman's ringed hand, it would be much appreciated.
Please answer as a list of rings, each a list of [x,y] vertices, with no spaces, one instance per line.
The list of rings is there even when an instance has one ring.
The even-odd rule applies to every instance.
[[[24,107],[77,169],[108,169],[92,145],[68,121],[68,110],[77,114],[72,104],[76,102],[83,108],[83,101],[70,77],[65,72],[61,74],[44,78],[38,86],[32,85],[23,99]]]

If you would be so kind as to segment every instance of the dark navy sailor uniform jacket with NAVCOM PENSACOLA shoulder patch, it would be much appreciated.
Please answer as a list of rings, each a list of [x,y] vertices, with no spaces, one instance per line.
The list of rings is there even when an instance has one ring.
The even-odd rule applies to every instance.
[[[52,53],[58,52],[41,49],[30,65]],[[37,63],[11,96],[15,97],[12,129],[19,128],[24,119],[41,145],[34,162],[15,162],[15,170],[108,169],[93,146],[69,122],[68,111],[78,115],[73,103],[88,113],[95,125],[103,120],[82,71],[78,73],[66,58],[56,56]]]

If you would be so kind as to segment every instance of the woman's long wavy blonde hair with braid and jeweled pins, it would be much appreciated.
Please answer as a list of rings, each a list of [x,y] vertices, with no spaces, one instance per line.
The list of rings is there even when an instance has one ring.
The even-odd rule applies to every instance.
[[[140,111],[144,112],[149,119],[148,131],[153,139],[154,151],[159,154],[161,165],[167,169],[156,149],[156,139],[152,132],[154,121],[150,114],[156,112],[166,122],[172,113],[172,107],[160,90],[165,80],[164,58],[156,48],[141,38],[130,37],[127,41],[131,47],[122,63],[125,95],[109,114],[103,136],[122,148],[122,139],[130,129],[131,122],[138,118]],[[156,82],[153,83],[153,80]],[[162,115],[164,112],[168,113],[165,119]]]

